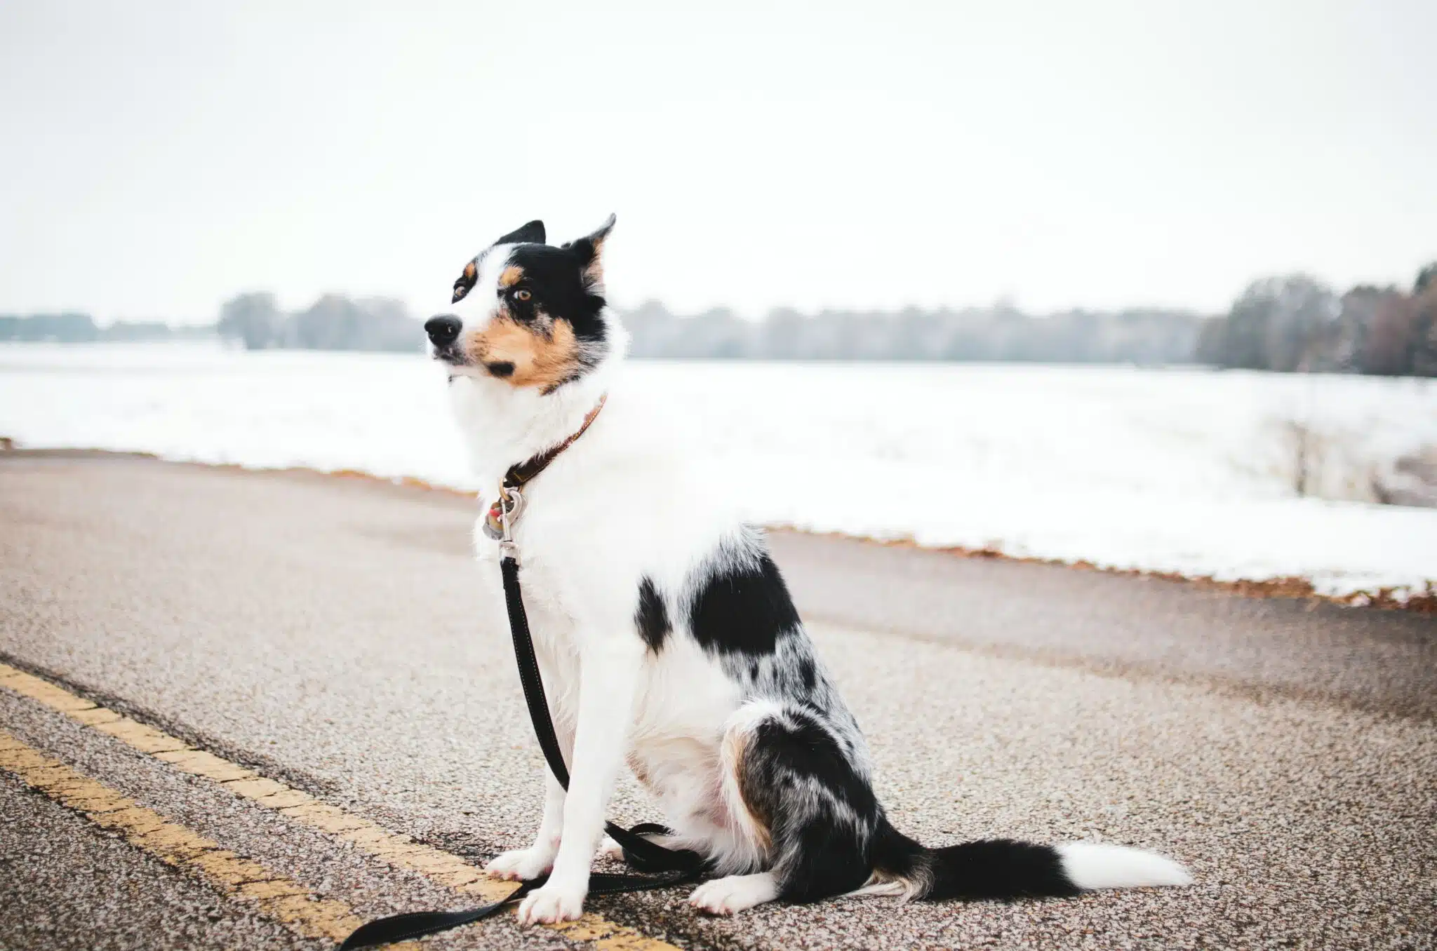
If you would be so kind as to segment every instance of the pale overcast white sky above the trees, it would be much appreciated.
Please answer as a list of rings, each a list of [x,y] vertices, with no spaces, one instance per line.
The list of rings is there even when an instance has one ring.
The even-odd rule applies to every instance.
[[[0,312],[424,316],[609,211],[611,297],[681,310],[1217,310],[1437,257],[1431,0],[680,6],[9,0]]]

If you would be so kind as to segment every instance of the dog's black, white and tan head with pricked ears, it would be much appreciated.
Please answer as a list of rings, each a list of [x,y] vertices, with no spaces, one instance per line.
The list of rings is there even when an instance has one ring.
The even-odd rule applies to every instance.
[[[562,247],[530,221],[480,251],[454,282],[453,310],[424,325],[451,375],[487,376],[550,394],[609,352],[604,241],[614,215]]]

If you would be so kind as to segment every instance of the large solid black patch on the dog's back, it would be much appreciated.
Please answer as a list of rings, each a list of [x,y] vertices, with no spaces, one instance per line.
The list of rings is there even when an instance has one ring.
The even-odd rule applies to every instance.
[[[708,576],[688,605],[694,639],[720,654],[773,654],[779,635],[798,623],[793,599],[767,553],[757,563]]]

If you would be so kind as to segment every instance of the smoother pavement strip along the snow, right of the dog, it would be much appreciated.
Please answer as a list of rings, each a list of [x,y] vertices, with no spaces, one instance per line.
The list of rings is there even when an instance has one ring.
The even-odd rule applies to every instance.
[[[810,619],[1256,700],[1437,718],[1433,615],[793,532],[772,540]]]

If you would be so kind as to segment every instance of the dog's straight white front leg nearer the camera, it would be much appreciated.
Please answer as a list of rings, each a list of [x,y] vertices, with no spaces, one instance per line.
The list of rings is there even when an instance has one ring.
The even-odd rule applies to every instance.
[[[579,721],[563,802],[563,838],[549,882],[519,905],[519,924],[570,921],[583,914],[589,865],[624,761],[642,664],[644,644],[635,636],[611,636],[581,649]]]

